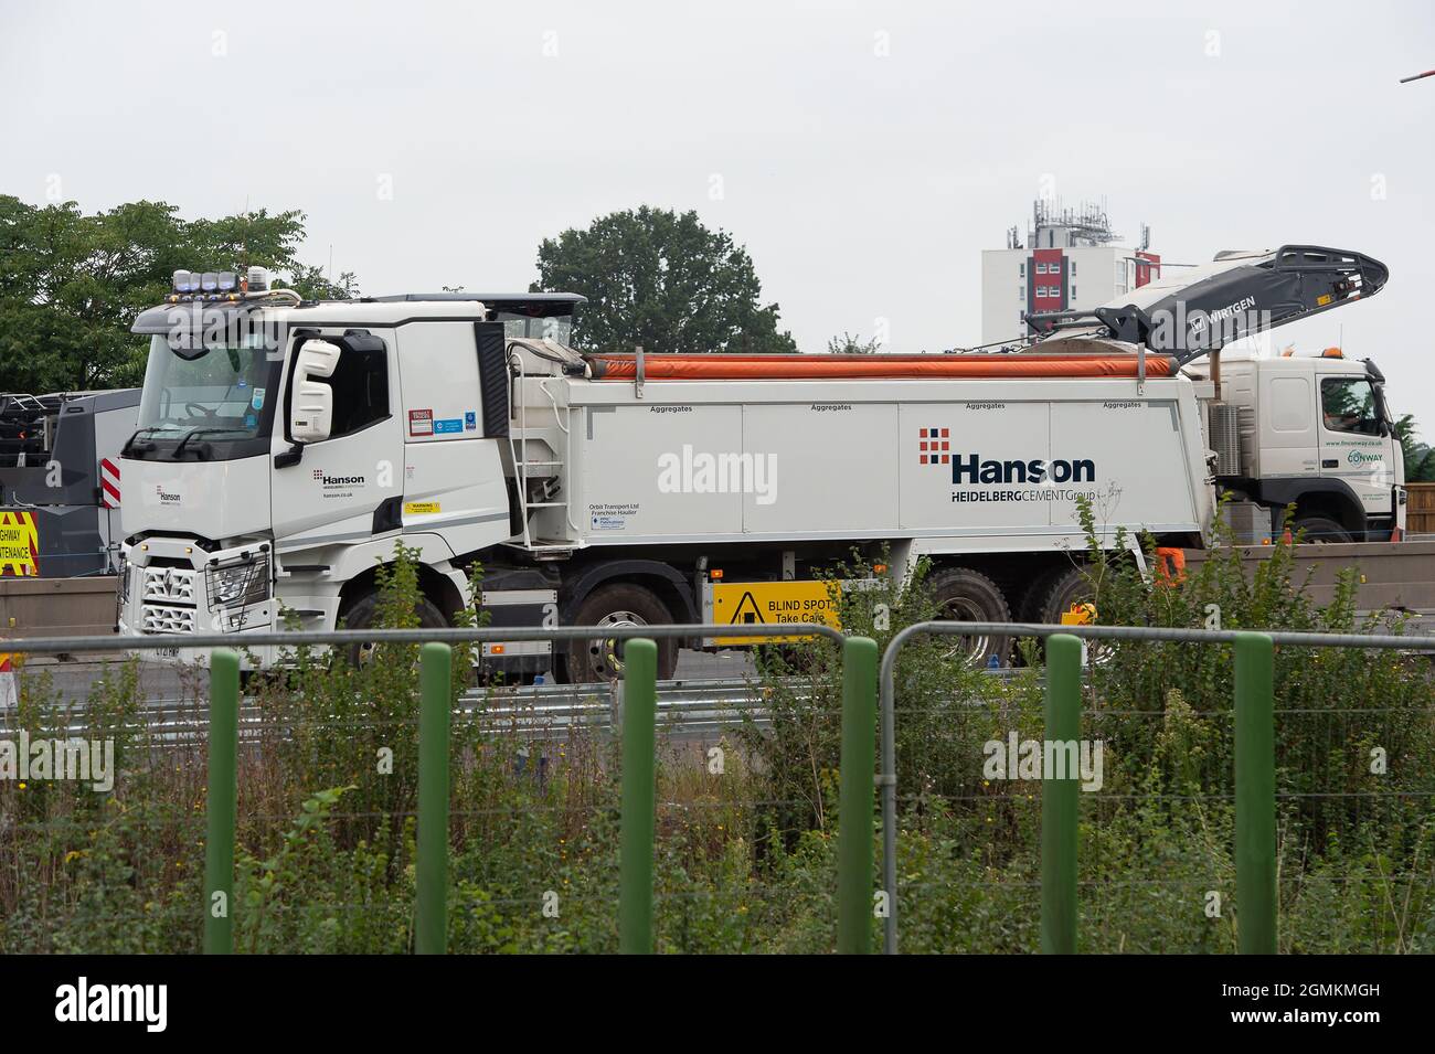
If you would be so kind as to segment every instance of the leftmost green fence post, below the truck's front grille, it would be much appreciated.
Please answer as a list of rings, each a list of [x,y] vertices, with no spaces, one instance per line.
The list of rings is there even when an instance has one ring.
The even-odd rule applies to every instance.
[[[205,800],[204,954],[234,954],[234,813],[240,793],[240,657],[210,652],[210,793]]]

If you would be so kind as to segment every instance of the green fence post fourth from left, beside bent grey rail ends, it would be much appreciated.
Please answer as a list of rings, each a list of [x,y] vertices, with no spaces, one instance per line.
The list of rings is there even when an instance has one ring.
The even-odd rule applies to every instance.
[[[872,769],[877,764],[877,641],[842,642],[842,770],[837,827],[837,951],[872,949]]]

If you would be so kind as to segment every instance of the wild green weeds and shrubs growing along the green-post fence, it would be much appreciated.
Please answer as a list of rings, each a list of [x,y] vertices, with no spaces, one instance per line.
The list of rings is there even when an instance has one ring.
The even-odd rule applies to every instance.
[[[1085,511],[1088,521],[1089,509]],[[1247,578],[1217,552],[1182,582],[1142,578],[1092,543],[1104,622],[1360,628],[1349,592],[1316,605],[1273,546]],[[834,599],[881,647],[936,607],[918,566],[831,569]],[[481,569],[474,569],[475,585]],[[412,625],[413,552],[379,575],[382,624]],[[472,611],[461,618],[476,619]],[[1006,677],[966,670],[954,638],[918,637],[895,670],[898,883],[910,952],[1029,952],[1039,928],[1039,780],[989,774],[986,746],[1042,734],[1040,652]],[[393,952],[412,945],[416,647],[360,668],[300,650],[253,698],[240,753],[235,941],[243,952]],[[1435,951],[1435,723],[1431,667],[1379,651],[1280,648],[1280,941],[1292,952]],[[1119,644],[1083,688],[1104,782],[1081,796],[1081,948],[1231,952],[1234,902],[1228,648]],[[455,655],[455,667],[466,660]],[[466,678],[455,674],[453,693]],[[202,718],[202,685],[192,685]],[[692,743],[660,743],[657,948],[824,952],[834,946],[841,678],[827,641],[761,652],[769,710],[720,741],[722,774]],[[455,952],[617,948],[621,766],[603,734],[505,727],[455,708],[449,946]],[[9,728],[65,730],[79,707],[26,675]],[[202,751],[148,727],[138,670],[96,683],[83,720],[113,736],[113,793],[0,782],[0,952],[192,952],[205,898]],[[705,744],[707,746],[707,744]],[[1376,773],[1380,747],[1388,770]],[[392,751],[392,771],[380,766]],[[1220,911],[1208,913],[1213,896]],[[877,941],[874,926],[874,945]]]

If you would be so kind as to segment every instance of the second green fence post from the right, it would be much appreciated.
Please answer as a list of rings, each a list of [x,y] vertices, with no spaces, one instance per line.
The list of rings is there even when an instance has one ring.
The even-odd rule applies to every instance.
[[[1046,640],[1046,743],[1081,740],[1081,638],[1053,634]],[[1076,951],[1076,796],[1081,770],[1073,751],[1055,756],[1071,764],[1063,779],[1042,773],[1042,951],[1071,955]]]

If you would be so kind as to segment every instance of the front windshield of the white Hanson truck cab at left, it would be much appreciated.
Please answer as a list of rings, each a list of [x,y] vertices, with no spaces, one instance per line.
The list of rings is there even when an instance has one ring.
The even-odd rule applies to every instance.
[[[187,357],[154,336],[139,427],[125,456],[232,460],[267,453],[280,366],[263,347],[211,346]]]

